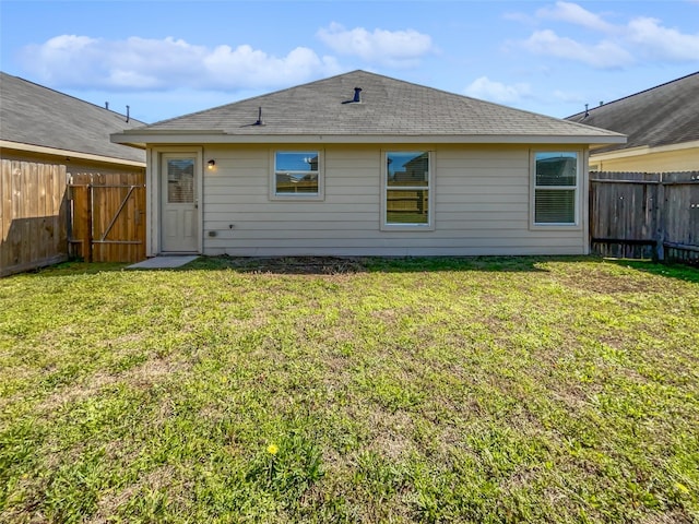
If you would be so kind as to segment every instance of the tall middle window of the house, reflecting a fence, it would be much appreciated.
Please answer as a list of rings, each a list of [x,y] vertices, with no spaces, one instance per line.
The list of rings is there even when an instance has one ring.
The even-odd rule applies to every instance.
[[[429,152],[401,151],[386,154],[383,225],[431,225]]]

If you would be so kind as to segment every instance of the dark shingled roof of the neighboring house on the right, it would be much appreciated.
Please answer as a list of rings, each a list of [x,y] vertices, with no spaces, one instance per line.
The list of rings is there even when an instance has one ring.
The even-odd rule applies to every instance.
[[[595,154],[629,147],[699,140],[699,72],[568,117],[628,135],[628,142]]]

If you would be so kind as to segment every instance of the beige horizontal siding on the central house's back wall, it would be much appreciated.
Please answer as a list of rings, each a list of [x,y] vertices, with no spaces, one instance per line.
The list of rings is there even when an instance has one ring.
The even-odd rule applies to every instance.
[[[289,151],[287,144],[283,147]],[[299,146],[307,150],[308,144]],[[390,147],[389,147],[390,148]],[[405,148],[404,146],[401,148]],[[324,145],[324,199],[271,201],[273,146],[205,146],[203,252],[230,255],[580,254],[583,228],[533,230],[528,146],[434,146],[435,229],[380,229],[386,145]],[[585,182],[587,183],[587,182]],[[581,202],[582,193],[581,193]],[[585,193],[587,194],[587,193]],[[233,225],[233,228],[229,226]],[[210,236],[214,231],[215,236]]]

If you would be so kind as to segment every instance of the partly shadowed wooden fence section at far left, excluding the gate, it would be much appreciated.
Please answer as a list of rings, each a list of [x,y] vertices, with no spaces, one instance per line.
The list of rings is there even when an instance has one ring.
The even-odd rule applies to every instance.
[[[67,260],[66,166],[0,164],[0,276]]]

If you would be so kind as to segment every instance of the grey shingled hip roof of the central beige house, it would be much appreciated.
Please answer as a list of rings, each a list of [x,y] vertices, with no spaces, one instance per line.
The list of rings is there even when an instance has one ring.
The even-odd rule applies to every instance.
[[[352,102],[355,87],[362,90],[359,103]],[[144,144],[389,140],[619,143],[625,139],[611,131],[354,71],[128,130],[112,140]]]

